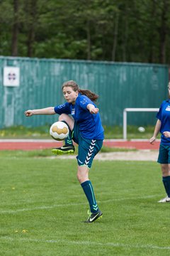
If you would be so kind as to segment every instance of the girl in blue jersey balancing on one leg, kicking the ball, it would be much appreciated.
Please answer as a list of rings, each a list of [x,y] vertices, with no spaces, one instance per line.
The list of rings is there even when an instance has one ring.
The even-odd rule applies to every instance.
[[[83,188],[90,210],[86,223],[93,223],[102,217],[94,196],[94,188],[89,180],[89,169],[94,156],[101,150],[104,130],[101,117],[96,107],[98,95],[90,90],[82,90],[76,82],[69,80],[62,85],[66,102],[56,107],[46,107],[39,110],[26,110],[26,117],[33,114],[60,114],[59,121],[69,127],[69,135],[64,140],[64,146],[52,149],[54,154],[74,153],[73,141],[79,145],[77,156],[77,179]],[[69,115],[71,114],[71,116]]]

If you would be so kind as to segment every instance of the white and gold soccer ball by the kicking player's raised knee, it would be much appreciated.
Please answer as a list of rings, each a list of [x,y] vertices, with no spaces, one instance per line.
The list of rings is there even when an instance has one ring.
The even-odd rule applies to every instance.
[[[69,135],[69,127],[64,122],[55,122],[50,127],[50,135],[57,141],[62,141]]]

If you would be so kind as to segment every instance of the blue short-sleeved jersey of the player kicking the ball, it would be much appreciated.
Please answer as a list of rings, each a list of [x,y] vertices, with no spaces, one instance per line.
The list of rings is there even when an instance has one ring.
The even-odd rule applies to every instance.
[[[79,124],[82,137],[86,139],[104,139],[100,114],[91,114],[86,108],[88,104],[93,104],[96,107],[89,97],[79,94],[75,105],[66,102],[63,105],[56,106],[55,112],[57,114],[72,114],[75,122]]]

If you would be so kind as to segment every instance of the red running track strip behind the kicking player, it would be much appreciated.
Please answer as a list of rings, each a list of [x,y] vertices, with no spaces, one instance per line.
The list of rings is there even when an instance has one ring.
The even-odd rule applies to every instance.
[[[149,141],[134,140],[134,141],[123,141],[106,139],[103,142],[103,146],[115,147],[115,148],[126,148],[126,149],[150,149],[158,150],[160,142],[154,142],[153,145],[149,144]],[[23,140],[23,139],[1,139],[0,150],[35,150],[35,149],[49,149],[62,146],[62,142],[52,142],[49,140]]]

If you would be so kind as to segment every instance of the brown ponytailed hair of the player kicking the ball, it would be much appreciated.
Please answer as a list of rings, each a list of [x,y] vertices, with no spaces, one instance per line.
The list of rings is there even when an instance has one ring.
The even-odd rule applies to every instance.
[[[86,97],[89,97],[89,99],[92,100],[93,102],[95,102],[98,99],[98,95],[96,95],[96,93],[91,92],[91,90],[80,89],[79,85],[77,85],[77,83],[74,82],[73,80],[64,82],[64,84],[62,85],[62,90],[64,87],[72,87],[72,90],[74,90],[74,92],[78,90],[78,92],[80,92],[81,95],[86,95]]]

